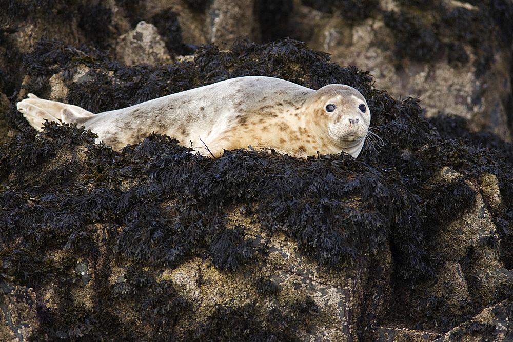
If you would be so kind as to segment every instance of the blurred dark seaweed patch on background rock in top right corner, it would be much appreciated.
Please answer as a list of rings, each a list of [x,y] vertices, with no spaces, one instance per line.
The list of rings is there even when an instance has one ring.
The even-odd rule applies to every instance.
[[[479,76],[489,70],[494,59],[490,47],[492,39],[497,39],[501,45],[510,45],[511,30],[509,25],[503,27],[505,19],[513,13],[510,4],[479,2],[476,3],[479,10],[470,10],[460,6],[446,9],[440,2],[408,0],[403,3],[408,6],[401,11],[383,13],[385,25],[396,37],[394,54],[400,59],[432,63],[447,58],[449,64],[458,67],[469,61],[464,48],[468,45],[477,57],[474,63]],[[499,14],[485,7],[501,8],[504,12]],[[493,29],[496,26],[500,30]]]

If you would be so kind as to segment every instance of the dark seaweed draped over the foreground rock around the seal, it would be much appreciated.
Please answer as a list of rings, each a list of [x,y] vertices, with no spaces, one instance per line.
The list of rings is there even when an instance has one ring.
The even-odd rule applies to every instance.
[[[499,238],[483,239],[461,264],[468,273],[477,262],[476,248],[497,246],[501,261],[511,265],[510,145],[493,135],[469,133],[457,118],[426,120],[418,99],[394,100],[373,87],[368,72],[341,68],[301,42],[242,40],[223,51],[207,45],[192,61],[127,67],[100,51],[45,40],[25,56],[24,64],[34,75],[25,90],[43,93],[52,75],[68,70],[71,76],[78,65],[87,65],[88,82],[65,80],[67,101],[93,112],[249,74],[282,77],[313,89],[345,83],[368,99],[371,125],[386,142],[379,153],[367,150],[357,159],[341,153],[302,160],[272,150],[239,149],[212,160],[159,134],[113,151],[94,144],[95,135],[75,125],[47,123],[41,133],[22,128],[0,147],[0,253],[7,275],[2,281],[36,293],[49,284],[56,289],[51,304],[39,304],[43,324],[37,336],[172,339],[180,329],[177,322],[194,312],[173,283],[161,277],[162,269],[201,258],[222,271],[242,272],[266,253],[265,242],[258,245],[247,234],[249,225],[229,219],[233,208],[241,208],[238,215],[266,234],[285,235],[298,252],[333,272],[364,260],[374,265],[389,249],[389,286],[400,290],[399,297],[408,297],[432,280],[445,261],[432,238],[443,221],[474,203],[468,182],[490,173],[503,198],[491,212]],[[11,111],[14,123],[20,116],[14,107]],[[460,176],[441,178],[447,167]],[[79,264],[84,275],[77,271]],[[254,287],[259,296],[279,293],[270,279],[258,277]],[[467,280],[472,307],[444,308],[440,298],[424,297],[419,298],[423,305],[407,313],[399,310],[397,320],[421,327],[426,319],[436,319],[438,330],[468,320],[486,303],[472,288],[478,283]],[[73,296],[73,290],[86,286],[97,289],[89,306]],[[504,291],[497,298],[504,298]],[[263,321],[253,317],[258,310],[264,310]],[[320,310],[311,299],[272,309],[221,305],[201,323],[190,318],[191,330],[184,334],[192,340],[290,340],[294,329]],[[126,312],[132,313],[128,319]],[[492,330],[467,328],[476,336]],[[148,331],[154,335],[148,337]]]

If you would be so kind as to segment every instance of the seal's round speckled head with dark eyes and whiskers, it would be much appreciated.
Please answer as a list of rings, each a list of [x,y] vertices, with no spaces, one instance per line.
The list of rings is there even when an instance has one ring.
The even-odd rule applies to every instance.
[[[365,97],[353,87],[330,84],[316,91],[312,99],[318,135],[333,153],[344,151],[356,158],[370,125]]]

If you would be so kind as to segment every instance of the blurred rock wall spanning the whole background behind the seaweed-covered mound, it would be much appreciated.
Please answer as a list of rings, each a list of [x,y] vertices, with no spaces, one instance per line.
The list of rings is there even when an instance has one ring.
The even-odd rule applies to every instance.
[[[199,44],[231,45],[246,36],[257,42],[290,36],[330,53],[341,65],[369,70],[377,86],[396,98],[421,98],[429,117],[439,112],[456,114],[469,120],[473,132],[488,130],[511,141],[510,2],[323,0],[302,4],[149,0],[135,6],[109,0],[95,6],[76,2],[55,10],[13,6],[3,23],[9,32],[6,42],[18,51],[30,51],[46,34],[75,46],[92,43],[115,54],[116,49],[127,49],[127,42],[135,43],[133,35],[126,35],[130,27],[145,21],[157,28],[160,39],[155,39],[163,39],[168,50],[159,47],[151,52],[149,63],[168,63],[168,54],[172,58],[189,55]],[[26,20],[28,16],[33,19]],[[51,28],[48,22],[53,23]],[[116,43],[120,36],[125,36],[122,48],[117,47],[121,42]],[[136,44],[134,49],[146,48]],[[159,51],[161,59],[155,55]],[[130,59],[129,51],[126,55]],[[2,64],[9,65],[9,70],[12,65],[10,72],[18,73],[16,58],[5,56],[6,52],[0,56]]]

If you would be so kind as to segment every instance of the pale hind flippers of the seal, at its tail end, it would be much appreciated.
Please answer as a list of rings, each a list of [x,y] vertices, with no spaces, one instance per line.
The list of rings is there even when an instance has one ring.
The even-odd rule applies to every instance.
[[[78,106],[44,100],[34,94],[28,94],[28,98],[18,102],[16,108],[27,119],[30,126],[40,131],[45,119],[55,121],[58,124],[81,124],[86,119],[94,116],[93,113]]]

